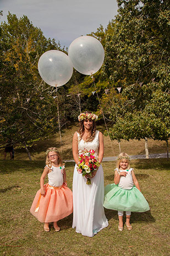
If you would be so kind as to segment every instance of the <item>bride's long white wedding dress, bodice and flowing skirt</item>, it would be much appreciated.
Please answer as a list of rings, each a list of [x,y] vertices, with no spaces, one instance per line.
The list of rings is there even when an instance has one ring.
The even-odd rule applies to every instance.
[[[94,150],[98,156],[99,131],[96,131],[95,138],[91,142],[79,140],[79,154],[86,150]],[[87,179],[79,174],[74,168],[73,175],[73,228],[83,236],[93,237],[98,231],[108,226],[108,221],[103,209],[104,199],[104,178],[102,165],[98,168],[94,178],[91,178],[91,185],[86,184]]]

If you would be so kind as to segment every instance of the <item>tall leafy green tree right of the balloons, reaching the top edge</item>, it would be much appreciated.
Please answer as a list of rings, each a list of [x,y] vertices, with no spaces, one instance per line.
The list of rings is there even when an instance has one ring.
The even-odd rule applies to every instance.
[[[150,137],[168,143],[168,1],[117,2],[119,14],[110,24],[113,33],[106,34],[103,67],[112,81],[110,95],[102,98],[112,120],[110,135],[119,141]],[[121,95],[114,93],[118,82]],[[162,115],[158,103],[164,106]]]

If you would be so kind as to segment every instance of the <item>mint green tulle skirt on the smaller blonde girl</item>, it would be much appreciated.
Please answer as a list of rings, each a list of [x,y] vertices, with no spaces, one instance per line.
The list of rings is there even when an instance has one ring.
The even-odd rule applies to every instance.
[[[116,184],[105,186],[103,206],[106,209],[117,211],[149,211],[150,207],[142,193],[133,186],[132,189],[121,189]]]

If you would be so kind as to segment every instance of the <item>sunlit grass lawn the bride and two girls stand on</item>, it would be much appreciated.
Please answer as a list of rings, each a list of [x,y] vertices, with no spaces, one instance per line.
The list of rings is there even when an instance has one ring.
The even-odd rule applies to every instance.
[[[130,151],[130,149],[129,149]],[[127,151],[129,153],[129,151]],[[166,152],[166,151],[165,151]],[[41,153],[41,152],[40,152]],[[130,153],[129,153],[130,154]],[[36,155],[36,154],[35,154]],[[43,155],[44,158],[44,155]],[[132,213],[132,231],[118,231],[117,211],[105,210],[109,226],[93,238],[72,228],[72,215],[59,221],[60,232],[43,231],[43,224],[29,212],[45,161],[0,161],[1,230],[0,255],[169,255],[169,162],[167,159],[132,160],[141,191],[151,210]],[[113,183],[115,162],[103,163],[105,185]],[[74,163],[67,163],[72,188]]]

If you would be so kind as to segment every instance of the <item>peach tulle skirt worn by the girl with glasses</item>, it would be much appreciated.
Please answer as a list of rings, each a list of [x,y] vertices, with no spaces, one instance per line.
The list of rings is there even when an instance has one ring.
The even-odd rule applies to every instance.
[[[42,196],[40,189],[32,202],[30,212],[40,222],[59,221],[73,212],[72,190],[67,186],[58,188],[45,185],[46,195]]]

